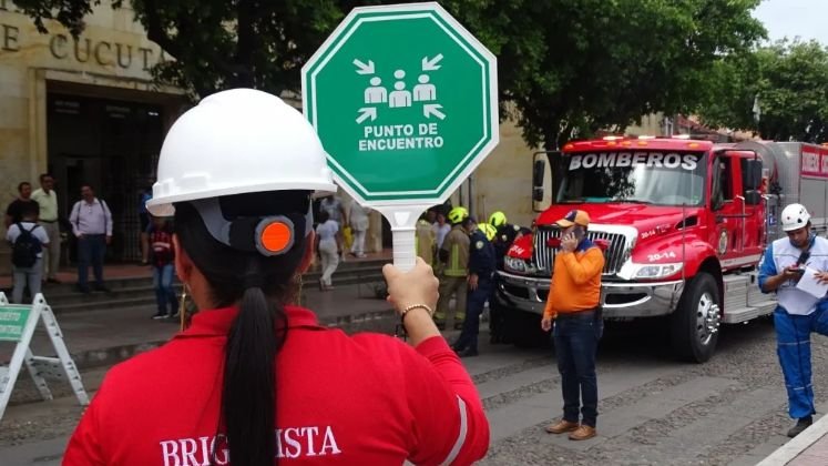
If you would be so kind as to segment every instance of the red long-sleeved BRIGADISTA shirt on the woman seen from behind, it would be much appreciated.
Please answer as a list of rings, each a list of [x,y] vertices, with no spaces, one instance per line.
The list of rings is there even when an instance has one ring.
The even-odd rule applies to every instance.
[[[205,465],[215,442],[226,334],[237,310],[200,312],[164,346],[113,367],[69,442],[64,465]],[[277,357],[282,464],[470,464],[489,424],[442,337],[417,348],[348,336],[287,307]],[[219,443],[221,445],[221,443]],[[218,465],[228,464],[218,450]]]

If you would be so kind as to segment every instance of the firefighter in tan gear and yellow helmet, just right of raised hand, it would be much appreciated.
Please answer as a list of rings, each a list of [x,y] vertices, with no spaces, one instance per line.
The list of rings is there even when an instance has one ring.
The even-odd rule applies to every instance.
[[[449,300],[454,294],[454,328],[460,330],[466,318],[466,294],[469,276],[469,234],[463,230],[463,221],[469,217],[466,207],[457,206],[446,216],[451,231],[446,235],[438,251],[440,262],[440,301],[437,302],[435,322],[438,328],[446,328],[449,315]]]

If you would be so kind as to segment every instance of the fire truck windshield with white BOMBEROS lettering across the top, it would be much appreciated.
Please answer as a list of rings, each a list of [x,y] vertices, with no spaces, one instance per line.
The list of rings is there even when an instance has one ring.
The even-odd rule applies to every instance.
[[[704,201],[702,152],[589,152],[563,158],[558,203],[633,202],[699,205]]]

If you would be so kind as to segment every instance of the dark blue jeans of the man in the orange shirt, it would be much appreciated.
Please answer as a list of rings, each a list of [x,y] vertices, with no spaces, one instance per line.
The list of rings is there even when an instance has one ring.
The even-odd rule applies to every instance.
[[[552,332],[561,373],[563,418],[595,427],[597,421],[597,377],[595,353],[604,333],[600,311],[572,316],[558,315]],[[580,416],[579,416],[580,409]]]

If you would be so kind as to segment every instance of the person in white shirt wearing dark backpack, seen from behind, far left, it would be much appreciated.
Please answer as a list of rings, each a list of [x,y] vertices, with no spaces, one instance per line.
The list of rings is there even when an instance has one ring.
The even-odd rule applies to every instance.
[[[33,298],[41,290],[43,274],[43,245],[49,244],[49,235],[38,225],[39,207],[37,202],[21,207],[21,221],[13,223],[6,232],[6,240],[11,244],[11,265],[13,290],[11,301],[23,303],[23,288],[29,286]]]

